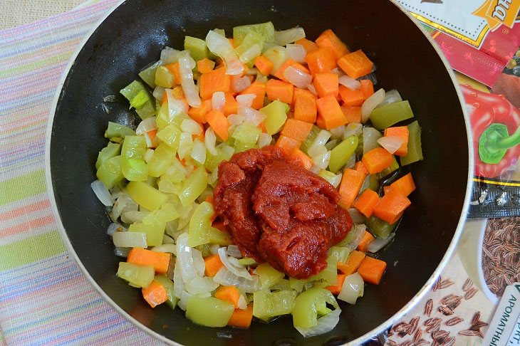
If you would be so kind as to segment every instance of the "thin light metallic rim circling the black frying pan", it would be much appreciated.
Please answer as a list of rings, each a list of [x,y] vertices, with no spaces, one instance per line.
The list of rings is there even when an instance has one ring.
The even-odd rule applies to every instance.
[[[130,314],[128,314],[123,308],[120,308],[118,304],[116,304],[112,298],[110,298],[105,291],[100,288],[98,283],[95,282],[95,280],[90,276],[90,273],[88,273],[85,266],[83,266],[83,263],[81,262],[80,258],[78,257],[78,254],[74,250],[72,243],[70,239],[68,238],[67,232],[65,230],[65,227],[63,226],[63,223],[61,221],[61,216],[58,211],[58,204],[56,204],[56,196],[54,195],[54,189],[53,189],[53,180],[52,180],[52,172],[51,172],[51,136],[52,136],[52,128],[53,128],[53,122],[54,122],[54,116],[56,115],[56,108],[58,107],[58,100],[60,98],[61,92],[63,90],[63,85],[65,85],[66,78],[68,77],[68,74],[71,71],[71,68],[76,63],[76,58],[78,57],[80,51],[83,50],[83,47],[85,46],[85,43],[90,39],[91,36],[93,36],[93,33],[98,29],[98,27],[105,21],[105,19],[110,16],[110,14],[115,11],[115,9],[118,9],[119,6],[125,3],[126,0],[120,0],[117,4],[113,6],[113,9],[108,11],[103,17],[99,19],[97,23],[95,23],[95,26],[93,26],[92,30],[88,33],[88,35],[83,38],[83,41],[80,43],[80,46],[78,46],[78,49],[76,52],[73,53],[73,56],[71,56],[70,61],[68,62],[68,65],[65,70],[63,70],[63,74],[61,75],[60,83],[58,83],[58,88],[56,88],[56,93],[53,98],[52,108],[51,108],[51,114],[48,118],[47,123],[47,130],[46,130],[46,146],[45,146],[45,172],[46,172],[46,183],[47,183],[47,191],[48,191],[48,197],[51,202],[51,209],[53,211],[53,216],[56,220],[56,224],[58,226],[58,231],[60,233],[60,236],[63,240],[63,243],[66,244],[66,248],[68,252],[73,256],[74,260],[78,264],[78,267],[80,268],[80,271],[82,271],[83,276],[87,278],[90,285],[95,288],[95,290],[98,291],[98,293],[103,297],[103,299],[110,305],[114,310],[116,310],[120,315],[122,315],[126,320],[130,321],[132,325],[135,325],[140,330],[147,332],[149,335],[152,335],[152,337],[155,337],[157,340],[160,340],[162,342],[165,342],[170,345],[179,345],[182,346],[182,344],[175,342],[174,340],[171,340],[164,335],[160,335],[159,333],[155,332],[154,330],[151,330],[149,327],[146,327],[139,321],[135,320]],[[464,124],[466,126],[466,134],[467,134],[467,147],[468,147],[468,167],[467,167],[467,185],[466,185],[466,195],[464,196],[464,204],[462,205],[462,213],[459,217],[459,222],[457,224],[457,228],[455,229],[452,241],[449,243],[449,246],[447,248],[447,251],[444,253],[444,256],[442,257],[439,265],[437,268],[435,268],[435,271],[432,273],[430,278],[427,280],[425,285],[422,286],[422,288],[417,292],[417,294],[414,295],[414,297],[408,301],[400,310],[397,311],[394,315],[392,315],[388,320],[385,320],[384,323],[381,323],[378,325],[378,327],[373,328],[373,330],[370,330],[370,332],[366,332],[364,335],[361,335],[360,337],[357,337],[355,340],[352,340],[350,342],[345,343],[344,345],[360,345],[362,342],[367,341],[370,337],[373,337],[375,335],[380,334],[383,332],[386,328],[388,328],[390,325],[395,323],[399,318],[401,318],[403,315],[405,315],[407,312],[409,312],[412,308],[419,303],[419,301],[422,299],[422,297],[427,293],[428,290],[432,287],[433,283],[437,279],[437,276],[440,275],[440,272],[444,267],[446,266],[447,262],[449,261],[449,258],[451,258],[452,254],[454,253],[455,248],[457,247],[457,243],[459,242],[459,238],[462,234],[462,229],[464,226],[464,221],[467,217],[467,210],[469,209],[469,198],[470,198],[470,192],[472,189],[472,167],[473,167],[473,143],[472,143],[472,133],[470,131],[471,127],[469,124],[469,117],[467,115],[467,111],[464,108],[464,98],[462,96],[462,91],[459,88],[459,85],[457,83],[457,78],[455,77],[452,68],[449,67],[449,63],[447,59],[444,57],[444,54],[440,50],[440,48],[437,46],[437,43],[433,41],[430,34],[425,31],[424,28],[422,28],[422,25],[415,19],[411,14],[408,13],[405,9],[400,6],[400,4],[397,3],[396,0],[390,0],[392,4],[397,6],[400,11],[402,11],[413,23],[415,23],[415,26],[422,32],[422,34],[425,36],[425,38],[430,42],[430,44],[433,46],[435,51],[437,52],[437,55],[441,59],[442,63],[444,64],[444,67],[447,70],[447,73],[449,75],[449,78],[451,78],[452,83],[455,87],[455,90],[457,91],[457,95],[459,97],[459,103],[462,108],[462,113],[464,115]]]

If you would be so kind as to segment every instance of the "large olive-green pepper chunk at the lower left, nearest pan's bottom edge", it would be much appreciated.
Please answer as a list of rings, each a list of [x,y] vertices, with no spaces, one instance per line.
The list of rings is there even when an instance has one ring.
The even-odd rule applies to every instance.
[[[227,301],[192,295],[188,298],[186,317],[193,323],[206,327],[225,327],[233,315],[233,311],[234,305]]]

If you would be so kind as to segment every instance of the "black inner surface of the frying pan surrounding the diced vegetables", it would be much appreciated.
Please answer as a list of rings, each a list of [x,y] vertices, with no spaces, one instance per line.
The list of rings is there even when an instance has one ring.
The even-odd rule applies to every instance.
[[[121,258],[114,256],[105,234],[110,223],[105,208],[90,189],[108,121],[136,123],[118,91],[141,68],[157,61],[165,45],[182,48],[186,34],[204,38],[210,29],[225,28],[229,35],[233,26],[264,21],[273,21],[279,30],[302,26],[311,39],[331,28],[350,48],[363,48],[378,66],[377,88],[399,90],[423,129],[425,160],[412,167],[418,188],[395,241],[380,254],[389,264],[383,281],[367,285],[356,305],[340,303],[336,328],[308,340],[293,328],[290,316],[270,324],[254,322],[248,330],[215,329],[194,325],[179,308],[152,310],[140,290],[115,276]],[[110,114],[101,105],[107,95],[117,95]],[[338,345],[388,327],[431,285],[437,266],[444,266],[442,258],[454,248],[452,238],[458,238],[465,211],[467,143],[452,75],[425,34],[389,0],[128,0],[88,38],[66,75],[51,128],[48,169],[64,238],[85,275],[120,313],[148,332],[186,345]]]

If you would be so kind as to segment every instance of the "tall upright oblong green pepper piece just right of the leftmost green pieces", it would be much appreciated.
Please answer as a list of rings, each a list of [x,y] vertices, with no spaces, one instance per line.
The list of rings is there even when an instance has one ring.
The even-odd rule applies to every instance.
[[[148,177],[148,167],[143,159],[147,149],[144,136],[125,137],[121,149],[121,170],[130,181],[145,181]]]

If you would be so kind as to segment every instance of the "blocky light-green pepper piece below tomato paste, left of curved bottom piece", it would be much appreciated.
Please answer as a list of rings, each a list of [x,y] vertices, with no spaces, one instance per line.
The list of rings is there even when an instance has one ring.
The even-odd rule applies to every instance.
[[[295,290],[269,292],[259,290],[253,293],[253,315],[261,320],[291,313],[296,300]]]

